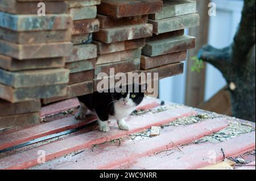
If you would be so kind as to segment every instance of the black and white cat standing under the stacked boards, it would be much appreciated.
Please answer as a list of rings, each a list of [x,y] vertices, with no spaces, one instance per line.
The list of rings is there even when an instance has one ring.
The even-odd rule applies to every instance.
[[[138,89],[135,89],[135,86]],[[129,116],[136,107],[142,102],[147,85],[133,85],[133,90],[126,92],[94,92],[93,94],[79,96],[80,109],[76,113],[76,119],[84,120],[88,110],[96,112],[100,131],[108,132],[110,119],[117,120],[119,129],[129,130],[129,125],[125,118]],[[134,90],[139,90],[134,91]]]

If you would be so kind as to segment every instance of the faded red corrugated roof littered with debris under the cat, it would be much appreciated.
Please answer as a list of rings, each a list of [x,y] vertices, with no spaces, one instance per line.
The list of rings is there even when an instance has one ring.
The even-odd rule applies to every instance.
[[[44,123],[1,133],[0,169],[200,169],[224,158],[237,162],[232,169],[255,169],[254,123],[145,99],[127,118],[130,131],[112,121],[103,133],[91,113],[74,118],[77,106],[76,99],[52,104],[42,110]],[[152,126],[159,136],[150,136]],[[47,164],[38,162],[43,154]]]

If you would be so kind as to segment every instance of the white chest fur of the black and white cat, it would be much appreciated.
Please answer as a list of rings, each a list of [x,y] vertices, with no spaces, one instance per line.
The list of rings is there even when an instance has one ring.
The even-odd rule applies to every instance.
[[[125,106],[121,106],[120,104],[114,104],[114,111],[115,111],[114,118],[117,120],[121,120],[129,116],[135,109],[136,109],[136,106],[125,107]]]

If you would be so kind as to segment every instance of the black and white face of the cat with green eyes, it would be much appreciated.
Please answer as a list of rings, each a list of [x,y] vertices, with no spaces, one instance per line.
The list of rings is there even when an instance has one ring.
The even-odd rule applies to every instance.
[[[138,91],[135,91],[135,86],[138,86]],[[146,91],[146,85],[145,87],[141,85],[133,85],[133,89],[129,90],[129,87],[126,87],[126,91],[121,92],[114,92],[112,94],[115,103],[118,103],[119,106],[123,107],[136,107],[138,106],[143,98],[144,98],[144,92]]]

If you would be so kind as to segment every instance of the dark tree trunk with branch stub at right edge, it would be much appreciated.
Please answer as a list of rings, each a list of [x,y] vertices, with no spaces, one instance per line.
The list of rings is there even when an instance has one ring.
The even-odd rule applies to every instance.
[[[232,45],[210,45],[199,58],[219,69],[228,82],[233,116],[255,122],[255,0],[245,0],[240,27]]]

